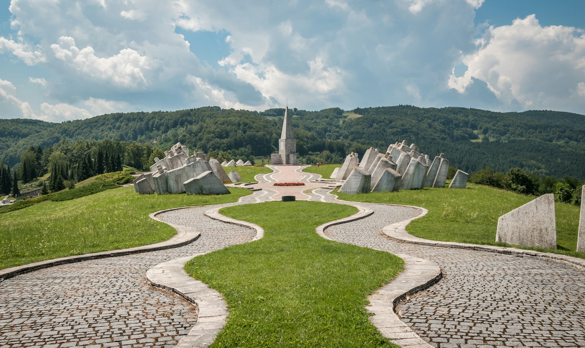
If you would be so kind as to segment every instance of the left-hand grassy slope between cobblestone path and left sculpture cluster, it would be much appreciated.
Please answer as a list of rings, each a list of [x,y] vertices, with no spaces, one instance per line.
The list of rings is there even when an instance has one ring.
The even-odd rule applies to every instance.
[[[168,208],[234,202],[250,190],[222,196],[137,194],[133,187],[68,201],[44,201],[2,214],[0,269],[26,263],[132,248],[171,238],[176,231],[148,214]]]

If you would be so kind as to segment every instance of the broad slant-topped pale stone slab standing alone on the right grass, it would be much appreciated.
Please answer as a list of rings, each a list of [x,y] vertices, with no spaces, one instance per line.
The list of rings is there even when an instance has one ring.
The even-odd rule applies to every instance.
[[[502,215],[495,241],[556,249],[555,195],[543,194]]]

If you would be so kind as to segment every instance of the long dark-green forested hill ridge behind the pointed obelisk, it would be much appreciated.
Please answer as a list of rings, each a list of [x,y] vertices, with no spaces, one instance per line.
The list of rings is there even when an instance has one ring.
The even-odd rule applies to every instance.
[[[385,149],[395,141],[414,142],[431,156],[444,152],[453,166],[476,171],[519,167],[555,176],[585,178],[585,116],[547,110],[497,113],[462,107],[390,106],[343,110],[290,109],[297,152],[307,159],[340,161],[349,151]],[[265,112],[201,107],[174,112],[114,113],[91,119],[47,123],[0,120],[0,161],[11,166],[30,147],[61,139],[138,141],[167,149],[180,141],[199,151],[269,155],[276,150],[284,109]],[[156,142],[154,142],[156,141]],[[322,151],[331,155],[324,156]],[[321,155],[320,155],[321,154]]]

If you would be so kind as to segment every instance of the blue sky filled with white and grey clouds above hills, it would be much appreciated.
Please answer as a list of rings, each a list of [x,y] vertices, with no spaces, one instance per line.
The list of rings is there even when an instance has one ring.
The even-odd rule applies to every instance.
[[[0,118],[398,104],[585,114],[583,0],[12,0]],[[253,4],[253,5],[249,5]]]

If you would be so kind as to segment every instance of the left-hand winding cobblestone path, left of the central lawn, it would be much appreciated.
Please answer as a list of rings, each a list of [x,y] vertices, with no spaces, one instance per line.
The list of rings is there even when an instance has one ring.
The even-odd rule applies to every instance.
[[[256,202],[260,193],[244,197],[240,204]],[[199,229],[201,237],[190,245],[60,265],[0,283],[0,347],[174,346],[197,315],[182,297],[147,284],[146,271],[161,262],[254,237],[250,229],[204,217],[208,209],[157,216]]]

